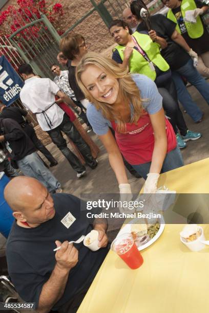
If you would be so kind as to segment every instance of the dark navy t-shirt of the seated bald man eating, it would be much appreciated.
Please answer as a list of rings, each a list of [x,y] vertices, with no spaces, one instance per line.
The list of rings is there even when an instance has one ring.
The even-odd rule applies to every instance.
[[[41,289],[49,279],[56,260],[55,240],[77,240],[91,230],[87,211],[81,211],[81,200],[73,195],[59,193],[53,195],[55,216],[35,228],[22,228],[13,223],[7,240],[8,271],[18,294],[26,302],[38,305]],[[66,228],[61,219],[70,212],[76,220]],[[82,243],[75,244],[78,249],[78,263],[70,270],[64,295],[54,305],[58,309],[75,294],[88,286],[94,279],[98,269],[108,252],[101,248],[92,252]]]

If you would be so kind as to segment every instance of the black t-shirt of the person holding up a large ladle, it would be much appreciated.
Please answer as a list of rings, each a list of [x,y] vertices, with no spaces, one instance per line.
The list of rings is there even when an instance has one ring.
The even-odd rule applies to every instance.
[[[189,60],[189,54],[171,39],[173,32],[176,29],[176,23],[166,18],[162,14],[156,14],[150,17],[151,27],[156,31],[157,35],[164,38],[168,47],[161,50],[161,55],[169,63],[172,71],[178,70],[181,66],[185,65]],[[144,21],[137,27],[137,31],[147,30]]]

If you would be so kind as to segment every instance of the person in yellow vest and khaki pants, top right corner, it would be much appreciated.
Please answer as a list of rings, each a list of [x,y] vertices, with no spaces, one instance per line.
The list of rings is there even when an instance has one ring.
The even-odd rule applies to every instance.
[[[208,6],[197,0],[162,0],[170,8],[167,17],[176,23],[176,30],[198,54],[198,72],[209,77],[209,33],[200,15]]]

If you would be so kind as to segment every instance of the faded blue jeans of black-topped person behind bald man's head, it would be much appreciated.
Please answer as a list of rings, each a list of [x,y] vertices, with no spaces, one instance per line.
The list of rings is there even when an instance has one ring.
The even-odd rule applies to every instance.
[[[36,180],[47,187],[49,192],[61,188],[60,183],[40,160],[36,152],[26,155],[22,160],[16,162],[25,176],[36,178]]]

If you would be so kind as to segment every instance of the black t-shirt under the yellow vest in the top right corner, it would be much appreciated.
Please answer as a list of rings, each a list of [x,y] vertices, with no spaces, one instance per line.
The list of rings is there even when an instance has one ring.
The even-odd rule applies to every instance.
[[[197,8],[200,8],[200,9],[205,6],[205,4],[203,4],[202,2],[197,1],[197,0],[195,0],[195,3],[196,3]],[[185,23],[184,23],[182,15],[181,15],[181,6],[179,6],[176,9],[173,9],[172,12],[174,13],[174,15],[177,19],[178,26],[179,26],[180,31],[181,31],[181,35],[186,40],[186,42],[189,44],[189,46],[197,54],[202,54],[202,53],[209,51],[209,34],[207,32],[204,21],[202,21],[202,25],[204,28],[203,35],[199,38],[192,39],[187,33]],[[200,18],[201,18],[201,16],[200,16]],[[202,20],[202,18],[201,18],[201,20]]]

